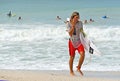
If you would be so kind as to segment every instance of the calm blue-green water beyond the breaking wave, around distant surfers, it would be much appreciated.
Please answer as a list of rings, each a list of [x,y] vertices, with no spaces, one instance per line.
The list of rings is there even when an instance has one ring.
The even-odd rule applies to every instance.
[[[55,17],[57,15],[66,19],[67,17],[70,17],[73,11],[79,11],[81,20],[93,18],[96,20],[97,24],[106,22],[111,25],[119,25],[119,3],[119,0],[1,0],[0,21],[2,23],[16,23],[17,18],[21,16],[23,19],[22,23],[42,22],[56,24]],[[9,13],[9,11],[16,14],[16,17],[8,19],[6,14]],[[102,20],[101,18],[104,15],[107,15],[110,19]]]

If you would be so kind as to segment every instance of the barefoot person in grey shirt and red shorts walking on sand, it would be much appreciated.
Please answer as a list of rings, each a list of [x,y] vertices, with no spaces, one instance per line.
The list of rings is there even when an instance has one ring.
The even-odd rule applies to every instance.
[[[79,12],[73,12],[70,18],[70,21],[67,23],[67,32],[70,36],[68,47],[69,47],[69,69],[70,75],[75,75],[73,71],[73,61],[75,58],[75,51],[78,50],[80,54],[80,58],[78,61],[78,65],[76,66],[77,71],[80,75],[83,76],[83,72],[81,71],[81,66],[84,61],[85,51],[84,47],[80,42],[80,31],[83,31],[83,23],[79,21],[80,15]]]

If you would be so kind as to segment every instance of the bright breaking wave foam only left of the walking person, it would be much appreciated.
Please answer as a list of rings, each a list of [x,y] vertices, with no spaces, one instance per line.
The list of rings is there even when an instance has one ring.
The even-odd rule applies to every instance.
[[[9,26],[9,27],[8,27]],[[23,25],[26,29],[14,29],[16,25],[2,25],[0,29],[1,41],[32,41],[44,38],[61,38],[66,36],[65,28],[51,25]],[[27,26],[27,27],[26,27]],[[37,27],[36,27],[37,26]],[[11,29],[10,29],[11,27]],[[15,28],[21,27],[17,25]]]

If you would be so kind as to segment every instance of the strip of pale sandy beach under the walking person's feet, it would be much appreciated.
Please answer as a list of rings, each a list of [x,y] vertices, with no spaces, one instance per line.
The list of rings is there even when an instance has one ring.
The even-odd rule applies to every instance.
[[[120,72],[84,71],[84,76],[69,71],[0,70],[0,81],[120,81]]]

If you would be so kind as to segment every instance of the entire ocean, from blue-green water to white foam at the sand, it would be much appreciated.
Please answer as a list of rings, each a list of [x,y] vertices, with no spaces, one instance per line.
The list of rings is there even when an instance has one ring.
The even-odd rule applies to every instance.
[[[69,70],[69,35],[63,21],[78,11],[81,21],[94,20],[83,25],[84,31],[101,52],[91,57],[86,52],[82,70],[120,71],[119,4],[119,0],[0,0],[0,69]],[[7,15],[10,11],[12,17]],[[74,69],[78,59],[76,51]]]

